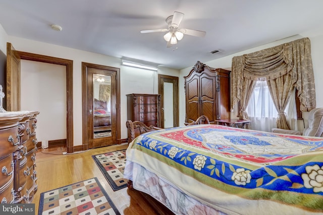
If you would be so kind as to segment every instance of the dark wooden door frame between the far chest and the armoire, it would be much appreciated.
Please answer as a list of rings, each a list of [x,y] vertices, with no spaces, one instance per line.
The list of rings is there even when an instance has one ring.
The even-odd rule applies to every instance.
[[[172,81],[169,81],[172,80]],[[179,90],[178,90],[178,77],[176,76],[167,76],[167,75],[160,75],[158,74],[158,94],[160,94],[160,107],[164,107],[164,84],[167,83],[174,83],[173,86],[173,124],[175,126],[179,126]],[[159,118],[159,125],[164,128],[164,111],[160,111],[160,118]]]

